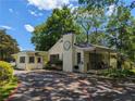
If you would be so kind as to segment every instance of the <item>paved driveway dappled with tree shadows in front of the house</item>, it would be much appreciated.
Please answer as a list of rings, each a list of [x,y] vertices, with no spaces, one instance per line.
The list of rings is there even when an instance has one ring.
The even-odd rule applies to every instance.
[[[30,72],[10,101],[135,101],[135,84],[74,73]]]

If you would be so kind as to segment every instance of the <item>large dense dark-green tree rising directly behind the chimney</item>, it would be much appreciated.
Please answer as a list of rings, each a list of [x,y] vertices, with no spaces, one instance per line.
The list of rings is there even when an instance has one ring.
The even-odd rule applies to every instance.
[[[46,23],[35,27],[32,42],[36,50],[49,50],[62,35],[73,31],[79,34],[79,26],[74,22],[73,14],[68,7],[54,9]]]

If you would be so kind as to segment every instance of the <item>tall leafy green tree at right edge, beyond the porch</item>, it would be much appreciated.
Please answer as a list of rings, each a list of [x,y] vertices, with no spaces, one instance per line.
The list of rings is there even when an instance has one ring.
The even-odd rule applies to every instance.
[[[135,18],[130,9],[123,3],[116,7],[114,13],[109,17],[107,25],[108,46],[115,48],[120,53],[127,55],[134,61],[135,47]]]

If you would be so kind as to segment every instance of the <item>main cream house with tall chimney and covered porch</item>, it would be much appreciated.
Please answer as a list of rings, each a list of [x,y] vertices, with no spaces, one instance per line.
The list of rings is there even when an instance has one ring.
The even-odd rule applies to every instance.
[[[116,66],[116,52],[91,43],[76,43],[74,34],[63,35],[48,51],[49,60],[61,60],[64,72],[87,73],[90,70]]]

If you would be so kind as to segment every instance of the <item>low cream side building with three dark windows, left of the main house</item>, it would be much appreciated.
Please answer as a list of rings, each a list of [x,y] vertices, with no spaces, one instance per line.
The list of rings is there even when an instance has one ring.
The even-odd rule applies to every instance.
[[[38,70],[44,67],[44,51],[21,51],[13,54],[16,68]]]

